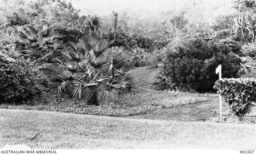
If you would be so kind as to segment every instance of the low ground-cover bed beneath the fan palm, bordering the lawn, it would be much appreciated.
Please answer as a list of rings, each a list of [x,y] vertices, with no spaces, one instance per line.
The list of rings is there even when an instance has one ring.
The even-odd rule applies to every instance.
[[[70,99],[62,94],[52,95],[48,93],[45,94],[44,100],[34,100],[24,105],[2,104],[0,108],[127,117],[153,113],[159,109],[170,109],[179,105],[197,104],[207,100],[207,97],[196,93],[134,91],[116,102],[102,103],[102,105],[97,106],[86,105],[84,101]]]

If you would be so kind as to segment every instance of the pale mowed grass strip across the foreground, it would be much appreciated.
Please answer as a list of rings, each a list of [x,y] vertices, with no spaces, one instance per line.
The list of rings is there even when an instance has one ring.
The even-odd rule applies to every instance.
[[[254,125],[137,120],[0,109],[0,147],[32,149],[250,149]]]

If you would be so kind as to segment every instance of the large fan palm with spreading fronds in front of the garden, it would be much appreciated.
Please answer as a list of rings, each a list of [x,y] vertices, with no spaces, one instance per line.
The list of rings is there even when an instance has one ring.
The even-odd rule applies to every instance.
[[[95,38],[94,38],[95,39]],[[109,42],[92,42],[83,36],[79,42],[69,42],[62,57],[54,57],[52,64],[42,68],[58,93],[83,99],[87,104],[99,105],[106,99],[116,99],[130,90],[121,68],[124,58],[106,53]]]

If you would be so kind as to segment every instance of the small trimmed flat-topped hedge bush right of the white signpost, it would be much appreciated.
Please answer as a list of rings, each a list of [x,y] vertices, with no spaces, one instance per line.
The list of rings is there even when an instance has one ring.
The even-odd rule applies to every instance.
[[[216,81],[214,88],[218,89],[239,120],[250,113],[251,107],[255,105],[255,78],[223,78]]]

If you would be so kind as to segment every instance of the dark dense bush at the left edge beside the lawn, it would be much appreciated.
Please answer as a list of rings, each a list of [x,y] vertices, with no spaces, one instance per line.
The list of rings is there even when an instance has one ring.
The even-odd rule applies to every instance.
[[[0,55],[0,103],[28,101],[40,94],[23,62],[9,62]]]

